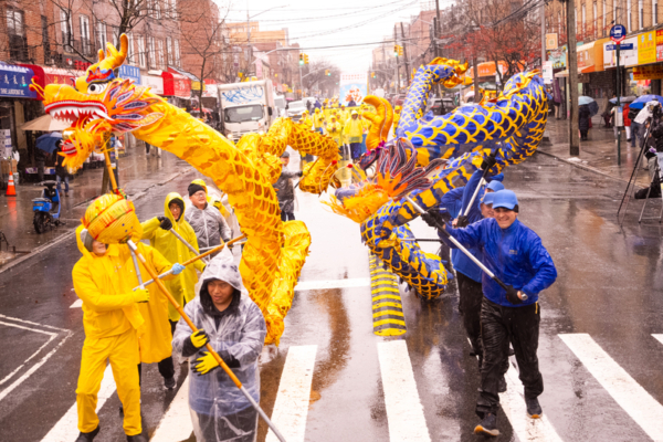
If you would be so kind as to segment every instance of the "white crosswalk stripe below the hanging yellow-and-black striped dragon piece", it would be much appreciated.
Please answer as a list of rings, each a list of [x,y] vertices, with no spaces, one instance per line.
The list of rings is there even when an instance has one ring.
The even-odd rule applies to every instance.
[[[391,442],[430,442],[404,340],[378,343],[385,407]]]

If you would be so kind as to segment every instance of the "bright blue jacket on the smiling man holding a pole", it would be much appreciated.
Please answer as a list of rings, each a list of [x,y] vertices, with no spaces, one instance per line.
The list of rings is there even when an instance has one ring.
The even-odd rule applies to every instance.
[[[557,278],[557,270],[541,239],[517,219],[504,230],[495,219],[486,218],[465,229],[453,229],[448,224],[446,231],[465,248],[480,248],[483,264],[503,283],[528,296],[523,304],[509,303],[506,291],[484,273],[484,296],[495,304],[506,307],[534,304],[539,292]]]

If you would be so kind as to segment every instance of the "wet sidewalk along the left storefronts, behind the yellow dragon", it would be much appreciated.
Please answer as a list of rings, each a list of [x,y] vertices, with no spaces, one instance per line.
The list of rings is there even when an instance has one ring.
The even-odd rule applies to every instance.
[[[145,148],[139,144],[127,156],[119,158],[119,185],[131,197],[131,200],[141,198],[145,192],[154,187],[171,181],[176,177],[192,170],[186,161],[172,154],[164,151],[160,158],[146,156]],[[25,183],[17,186],[15,197],[0,196],[0,231],[4,233],[11,246],[17,252],[7,252],[7,244],[0,244],[0,271],[17,263],[17,259],[30,256],[64,240],[80,224],[87,203],[101,194],[102,176],[104,169],[88,169],[80,172],[70,182],[69,197],[64,196],[62,185],[61,219],[66,225],[46,230],[42,234],[34,231],[32,224],[32,199],[39,198],[42,186]],[[22,260],[21,260],[22,261]],[[12,264],[9,264],[12,262]]]

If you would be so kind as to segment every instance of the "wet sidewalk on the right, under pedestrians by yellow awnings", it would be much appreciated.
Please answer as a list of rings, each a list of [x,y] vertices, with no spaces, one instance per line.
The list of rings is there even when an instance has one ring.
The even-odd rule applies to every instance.
[[[640,154],[639,147],[631,147],[627,143],[625,131],[622,130],[621,138],[621,165],[617,165],[617,141],[612,128],[607,129],[597,115],[592,118],[592,128],[589,129],[589,140],[580,141],[580,156],[571,157],[569,154],[569,122],[567,119],[548,118],[546,131],[550,137],[551,145],[541,145],[537,151],[550,155],[562,161],[567,161],[579,168],[598,172],[624,185],[631,178],[634,162]],[[640,188],[649,186],[648,170],[640,167],[636,171],[636,185]]]

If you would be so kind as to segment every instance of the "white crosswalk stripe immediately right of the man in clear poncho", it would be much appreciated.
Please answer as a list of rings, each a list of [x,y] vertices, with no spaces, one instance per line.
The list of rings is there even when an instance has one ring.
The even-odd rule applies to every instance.
[[[293,346],[287,350],[272,421],[288,442],[304,442],[311,403],[311,385],[317,345]],[[265,442],[277,442],[272,430]]]

